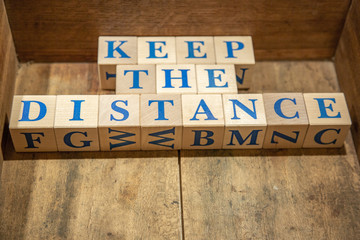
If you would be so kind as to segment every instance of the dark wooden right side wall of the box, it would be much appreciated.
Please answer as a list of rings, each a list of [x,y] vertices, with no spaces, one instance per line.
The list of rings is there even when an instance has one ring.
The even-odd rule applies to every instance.
[[[341,90],[346,95],[354,143],[360,157],[360,1],[352,1],[335,55]]]

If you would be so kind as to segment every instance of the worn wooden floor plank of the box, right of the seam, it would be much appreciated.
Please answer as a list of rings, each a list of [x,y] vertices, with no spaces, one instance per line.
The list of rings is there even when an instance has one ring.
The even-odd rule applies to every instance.
[[[332,62],[257,63],[254,92],[335,92]],[[181,151],[185,239],[359,239],[360,167],[341,149]]]

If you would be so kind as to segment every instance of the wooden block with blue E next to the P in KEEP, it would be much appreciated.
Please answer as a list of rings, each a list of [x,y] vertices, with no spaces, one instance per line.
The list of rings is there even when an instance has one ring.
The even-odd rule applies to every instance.
[[[176,37],[179,64],[215,64],[213,37]]]

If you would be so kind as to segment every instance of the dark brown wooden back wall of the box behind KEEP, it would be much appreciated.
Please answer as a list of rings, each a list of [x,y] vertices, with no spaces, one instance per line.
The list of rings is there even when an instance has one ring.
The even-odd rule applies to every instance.
[[[334,56],[350,0],[5,0],[21,62],[96,61],[99,35],[251,35],[257,60]]]

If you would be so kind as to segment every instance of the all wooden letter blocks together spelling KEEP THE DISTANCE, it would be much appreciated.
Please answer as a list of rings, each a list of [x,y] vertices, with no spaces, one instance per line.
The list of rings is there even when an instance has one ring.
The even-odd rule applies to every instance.
[[[251,37],[100,37],[103,89],[116,95],[15,96],[18,152],[341,147],[342,93],[238,94]]]

